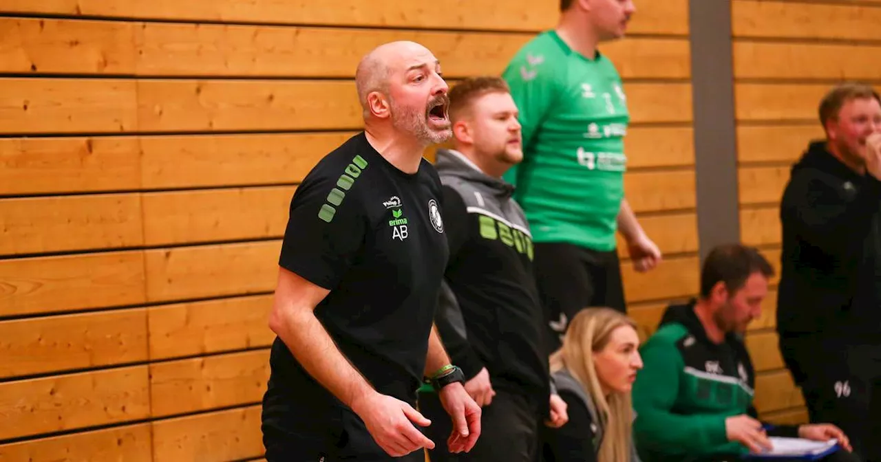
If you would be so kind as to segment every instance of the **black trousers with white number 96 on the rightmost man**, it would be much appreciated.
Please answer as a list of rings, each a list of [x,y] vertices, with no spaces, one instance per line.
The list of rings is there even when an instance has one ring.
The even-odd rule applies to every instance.
[[[881,345],[781,339],[811,423],[833,423],[866,462],[881,462]]]

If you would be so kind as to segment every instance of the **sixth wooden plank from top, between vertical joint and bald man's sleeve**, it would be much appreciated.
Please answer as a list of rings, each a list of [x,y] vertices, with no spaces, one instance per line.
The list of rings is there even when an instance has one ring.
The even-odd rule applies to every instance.
[[[145,252],[152,302],[275,290],[281,241]]]

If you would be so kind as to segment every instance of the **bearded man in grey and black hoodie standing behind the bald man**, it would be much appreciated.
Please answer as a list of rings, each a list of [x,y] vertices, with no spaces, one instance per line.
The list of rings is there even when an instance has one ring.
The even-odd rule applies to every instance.
[[[533,245],[514,187],[501,179],[522,158],[517,106],[499,77],[470,78],[449,92],[455,150],[439,150],[442,215],[449,261],[435,313],[441,341],[483,407],[481,436],[467,455],[441,445],[432,462],[537,460],[539,425],[566,421],[552,394],[543,315],[532,273]],[[420,410],[427,434],[449,435],[450,421],[430,388]]]

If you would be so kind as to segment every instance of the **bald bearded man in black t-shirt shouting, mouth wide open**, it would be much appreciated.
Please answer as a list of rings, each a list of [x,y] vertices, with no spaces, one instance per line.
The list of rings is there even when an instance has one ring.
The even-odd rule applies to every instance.
[[[423,460],[416,391],[429,379],[470,451],[480,407],[433,328],[448,260],[441,180],[423,157],[451,136],[438,60],[413,42],[374,49],[355,75],[365,130],[293,194],[263,397],[272,461]]]

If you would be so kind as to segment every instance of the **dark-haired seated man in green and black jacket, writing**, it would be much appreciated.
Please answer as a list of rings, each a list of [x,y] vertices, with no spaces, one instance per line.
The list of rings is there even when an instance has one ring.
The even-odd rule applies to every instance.
[[[768,436],[848,438],[831,424],[764,429],[752,406],[755,386],[742,335],[761,314],[774,269],[755,249],[715,247],[700,273],[700,297],[671,305],[640,348],[633,385],[633,433],[644,462],[721,462],[770,449]],[[854,460],[836,451],[826,460]]]

